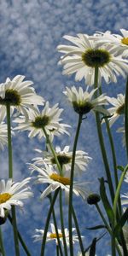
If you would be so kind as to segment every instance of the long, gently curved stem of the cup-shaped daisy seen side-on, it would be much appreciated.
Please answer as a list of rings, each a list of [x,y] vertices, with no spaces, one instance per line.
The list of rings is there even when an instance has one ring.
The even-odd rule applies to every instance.
[[[70,176],[69,207],[68,207],[69,244],[70,244],[70,254],[72,256],[73,256],[73,235],[72,235],[73,172],[74,172],[75,155],[76,155],[81,123],[82,123],[82,115],[79,114],[78,127],[77,127],[77,131],[76,131],[76,135],[73,143],[73,156],[72,156],[72,166],[71,166],[71,176]]]

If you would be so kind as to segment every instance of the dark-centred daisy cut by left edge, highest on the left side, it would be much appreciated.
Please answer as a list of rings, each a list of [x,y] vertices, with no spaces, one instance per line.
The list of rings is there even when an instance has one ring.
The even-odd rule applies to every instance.
[[[34,106],[44,105],[44,98],[35,93],[31,87],[32,81],[23,81],[25,76],[17,75],[14,79],[6,79],[0,84],[0,105],[3,114],[6,114],[6,105],[11,106],[11,114],[15,109],[18,113],[25,114],[27,108],[35,109]]]

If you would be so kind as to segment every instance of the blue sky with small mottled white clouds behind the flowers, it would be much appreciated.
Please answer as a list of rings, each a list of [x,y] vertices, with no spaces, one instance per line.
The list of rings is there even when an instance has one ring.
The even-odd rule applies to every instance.
[[[57,65],[60,54],[56,46],[65,43],[62,38],[65,34],[76,35],[79,32],[92,34],[96,31],[119,33],[120,28],[127,29],[127,1],[122,0],[15,0],[0,1],[0,83],[7,77],[12,79],[17,74],[23,74],[26,79],[34,82],[37,93],[49,100],[51,106],[59,102],[64,108],[62,113],[63,121],[73,126],[75,131],[77,116],[67,104],[62,91],[66,86],[83,86],[74,82],[74,76],[67,77],[61,74],[62,68]],[[103,84],[103,90],[109,96],[116,96],[117,93],[124,93],[125,81],[118,80],[118,84]],[[121,121],[119,121],[121,123]],[[113,126],[113,137],[116,145],[119,165],[125,163],[125,152],[121,144],[121,135],[115,132],[119,122]],[[98,192],[97,177],[104,175],[101,154],[97,145],[95,118],[91,114],[84,120],[78,149],[90,154],[93,160],[90,162],[84,179],[90,181],[91,189]],[[26,144],[27,143],[27,144]],[[55,141],[59,145],[73,145],[73,137],[60,137]],[[107,141],[108,143],[108,141]],[[15,180],[18,181],[29,175],[27,162],[35,157],[34,148],[44,147],[44,143],[38,142],[37,138],[27,139],[27,132],[18,133],[14,137],[14,172]],[[27,146],[26,146],[27,145]],[[72,146],[71,146],[72,148]],[[109,154],[109,153],[108,153]],[[109,154],[110,157],[110,154]],[[7,151],[0,154],[1,177],[8,177]],[[111,161],[111,160],[110,160]],[[35,187],[33,186],[33,189]],[[76,209],[80,219],[81,230],[85,236],[87,247],[96,232],[85,230],[85,226],[100,222],[95,209],[75,200]],[[35,228],[41,229],[44,226],[44,218],[48,209],[48,201],[43,204],[38,200],[38,189],[35,189],[35,200],[25,202],[24,212],[18,212],[18,222],[21,234],[27,240],[32,256],[39,253],[39,243],[32,243],[32,235]],[[57,214],[59,212],[56,207]],[[66,209],[67,212],[67,209]],[[14,255],[12,249],[12,235],[9,237],[9,224],[3,226],[3,237],[7,248],[7,256]],[[103,246],[102,246],[103,245]],[[51,244],[47,247],[46,256],[53,255]],[[11,254],[10,254],[11,252]],[[106,256],[110,252],[109,240],[107,237],[99,242],[97,255]],[[25,255],[21,251],[21,256]]]

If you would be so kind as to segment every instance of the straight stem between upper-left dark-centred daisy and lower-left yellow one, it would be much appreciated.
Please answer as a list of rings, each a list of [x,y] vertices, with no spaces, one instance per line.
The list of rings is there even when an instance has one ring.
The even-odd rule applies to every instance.
[[[13,157],[12,157],[12,139],[11,139],[11,120],[10,120],[10,105],[6,105],[7,110],[7,125],[8,125],[8,153],[9,153],[9,178],[13,177]]]

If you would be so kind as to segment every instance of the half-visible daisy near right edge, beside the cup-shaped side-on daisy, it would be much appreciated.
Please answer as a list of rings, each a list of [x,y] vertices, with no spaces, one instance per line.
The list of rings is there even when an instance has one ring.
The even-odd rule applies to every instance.
[[[112,117],[110,117],[109,120],[109,125],[112,126],[113,123],[119,119],[119,116],[121,114],[124,114],[125,110],[125,95],[123,94],[118,94],[117,98],[114,97],[109,97],[107,96],[107,100],[110,104],[113,105],[112,108],[108,108],[108,112]]]

